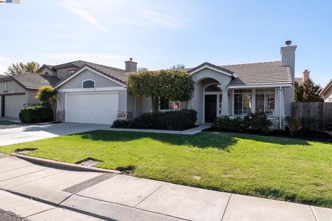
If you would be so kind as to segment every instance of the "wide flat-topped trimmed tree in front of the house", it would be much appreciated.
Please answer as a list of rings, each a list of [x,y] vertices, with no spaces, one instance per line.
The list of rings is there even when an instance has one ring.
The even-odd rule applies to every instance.
[[[154,111],[158,111],[160,97],[169,101],[186,102],[194,92],[192,75],[179,70],[158,70],[130,73],[127,79],[129,93],[151,97]]]

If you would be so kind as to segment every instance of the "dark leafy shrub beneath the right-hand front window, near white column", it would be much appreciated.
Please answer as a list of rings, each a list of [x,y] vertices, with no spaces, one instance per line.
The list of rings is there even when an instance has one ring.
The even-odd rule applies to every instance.
[[[248,113],[248,115],[243,118],[243,123],[246,131],[255,133],[268,133],[270,126],[272,126],[272,122],[268,120],[263,111]]]

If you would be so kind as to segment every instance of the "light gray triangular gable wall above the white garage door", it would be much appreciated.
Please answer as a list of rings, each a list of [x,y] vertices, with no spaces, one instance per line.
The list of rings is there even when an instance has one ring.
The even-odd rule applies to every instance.
[[[86,79],[92,79],[95,81],[96,88],[109,88],[109,87],[119,87],[121,84],[108,79],[102,75],[98,75],[93,70],[89,70],[88,68],[82,70],[82,72],[68,79],[68,81],[64,82],[60,85],[59,89],[72,89],[72,88],[82,88],[82,81]]]

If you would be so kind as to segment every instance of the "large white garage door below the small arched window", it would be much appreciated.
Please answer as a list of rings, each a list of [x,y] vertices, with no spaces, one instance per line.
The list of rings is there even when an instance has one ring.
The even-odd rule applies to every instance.
[[[118,117],[118,93],[67,94],[66,99],[66,122],[112,124]]]

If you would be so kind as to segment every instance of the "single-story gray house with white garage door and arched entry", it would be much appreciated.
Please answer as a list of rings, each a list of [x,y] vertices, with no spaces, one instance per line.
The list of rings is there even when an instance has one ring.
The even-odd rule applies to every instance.
[[[212,123],[218,115],[244,116],[264,111],[276,128],[284,126],[294,102],[295,50],[291,41],[281,48],[281,61],[216,66],[205,62],[185,71],[196,82],[194,96],[179,106],[161,99],[160,111],[194,108],[197,124]],[[62,79],[58,90],[57,120],[112,124],[152,110],[149,97],[128,93],[128,73],[137,63],[125,61],[125,68],[113,68],[86,61],[42,66],[41,73]]]

